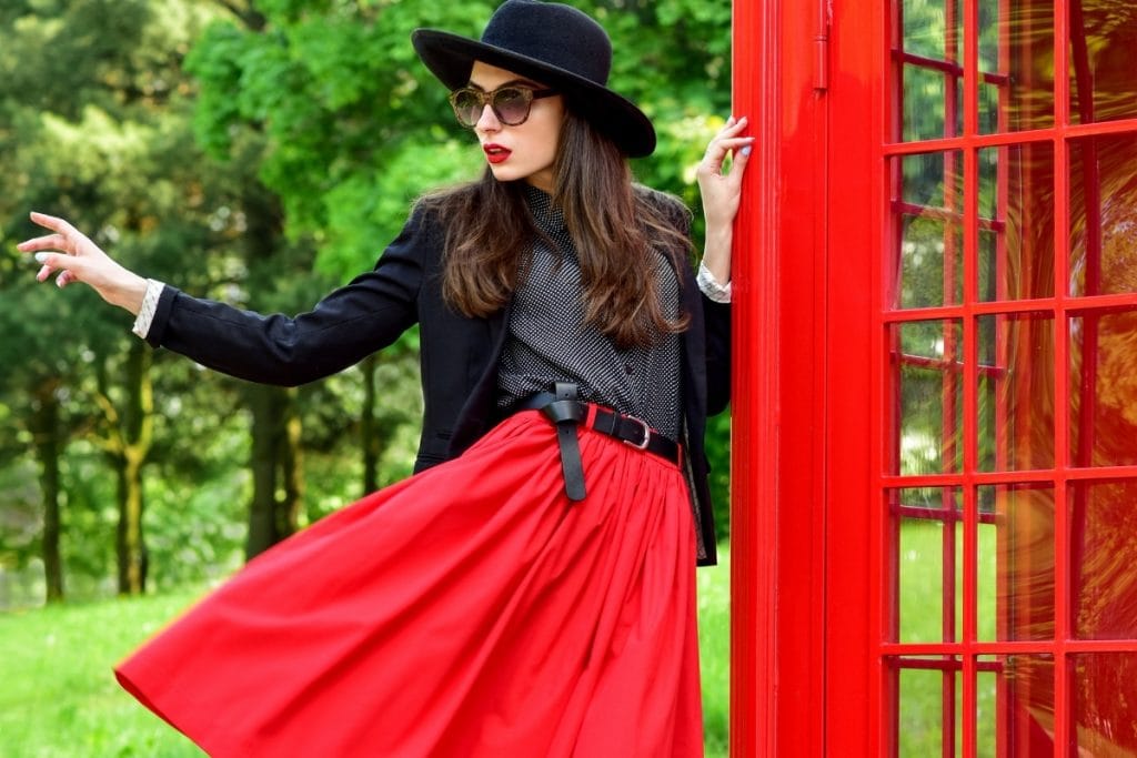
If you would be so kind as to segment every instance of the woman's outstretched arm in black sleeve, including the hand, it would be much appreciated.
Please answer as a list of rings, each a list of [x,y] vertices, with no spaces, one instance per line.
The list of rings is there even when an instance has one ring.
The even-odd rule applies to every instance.
[[[325,295],[304,314],[262,315],[192,298],[176,288],[144,280],[111,260],[61,218],[33,214],[55,232],[19,245],[42,264],[38,278],[60,286],[83,282],[110,303],[135,316],[135,334],[152,347],[180,352],[231,376],[266,384],[310,382],[387,347],[418,318],[424,258],[437,268],[439,227],[416,213],[384,250],[375,268]],[[153,297],[151,297],[153,295]],[[152,308],[144,301],[150,299]]]

